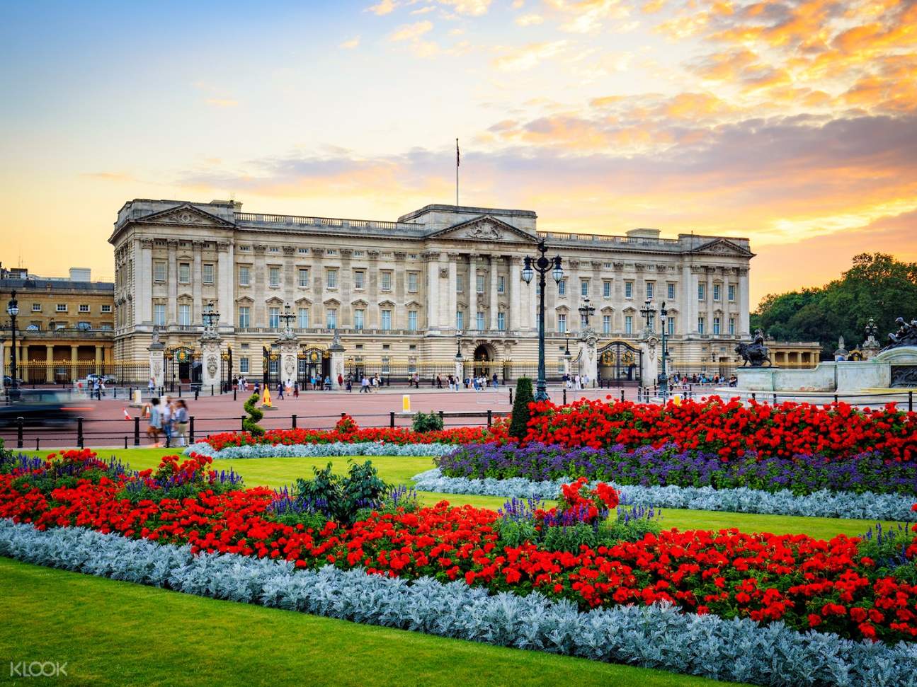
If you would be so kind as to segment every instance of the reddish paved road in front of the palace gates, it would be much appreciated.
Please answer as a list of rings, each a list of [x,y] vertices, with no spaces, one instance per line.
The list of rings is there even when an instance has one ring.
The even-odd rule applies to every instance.
[[[552,387],[549,390],[551,398],[560,402],[563,397],[563,390],[560,387]],[[361,426],[388,426],[390,411],[401,412],[402,395],[409,393],[411,397],[411,409],[438,411],[465,411],[472,413],[486,413],[488,409],[494,412],[508,411],[509,389],[500,387],[497,390],[487,390],[475,392],[473,390],[462,389],[458,393],[447,390],[413,389],[410,392],[404,388],[395,388],[392,390],[383,389],[371,394],[360,394],[355,389],[352,393],[346,391],[306,391],[300,394],[299,398],[276,398],[272,395],[275,410],[267,410],[264,414],[264,420],[261,425],[268,429],[289,428],[293,423],[293,414],[296,417],[297,427],[315,427],[329,428],[340,419],[342,412],[347,412],[353,416]],[[568,390],[568,400],[574,398],[605,398],[609,393],[614,398],[621,395],[620,388],[613,389],[589,389],[585,391]],[[175,395],[177,396],[177,395]],[[241,416],[245,414],[242,409],[244,394],[239,393],[237,400],[233,400],[232,394],[211,396],[201,396],[198,400],[188,396],[187,393],[182,398],[188,403],[188,409],[194,417],[194,431],[197,438],[207,433],[215,431],[237,431],[240,429]],[[635,399],[636,389],[627,387],[624,389],[625,398]],[[124,399],[105,398],[102,401],[88,399],[74,399],[73,405],[79,408],[85,408],[83,414],[83,436],[86,446],[123,446],[127,438],[128,446],[134,445],[134,423],[133,420],[124,420],[123,409],[133,418],[138,415],[139,409],[127,406]],[[457,425],[483,425],[486,424],[486,417],[455,417],[446,418],[447,426]],[[396,418],[395,424],[399,426],[408,426],[411,424],[409,418]],[[146,423],[140,421],[140,440],[145,445],[143,432],[146,430]],[[6,442],[6,446],[15,447],[17,445],[16,430],[5,429],[0,431],[0,436]],[[53,428],[27,428],[24,432],[24,447],[34,449],[36,440],[39,440],[41,448],[57,448],[62,446],[74,446],[76,444],[75,428],[63,431]]]

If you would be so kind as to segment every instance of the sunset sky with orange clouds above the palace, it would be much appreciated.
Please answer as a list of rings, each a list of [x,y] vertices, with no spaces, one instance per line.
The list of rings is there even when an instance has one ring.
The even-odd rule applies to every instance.
[[[917,260],[917,2],[7,2],[0,260],[112,278],[132,198],[747,236],[752,302]]]

